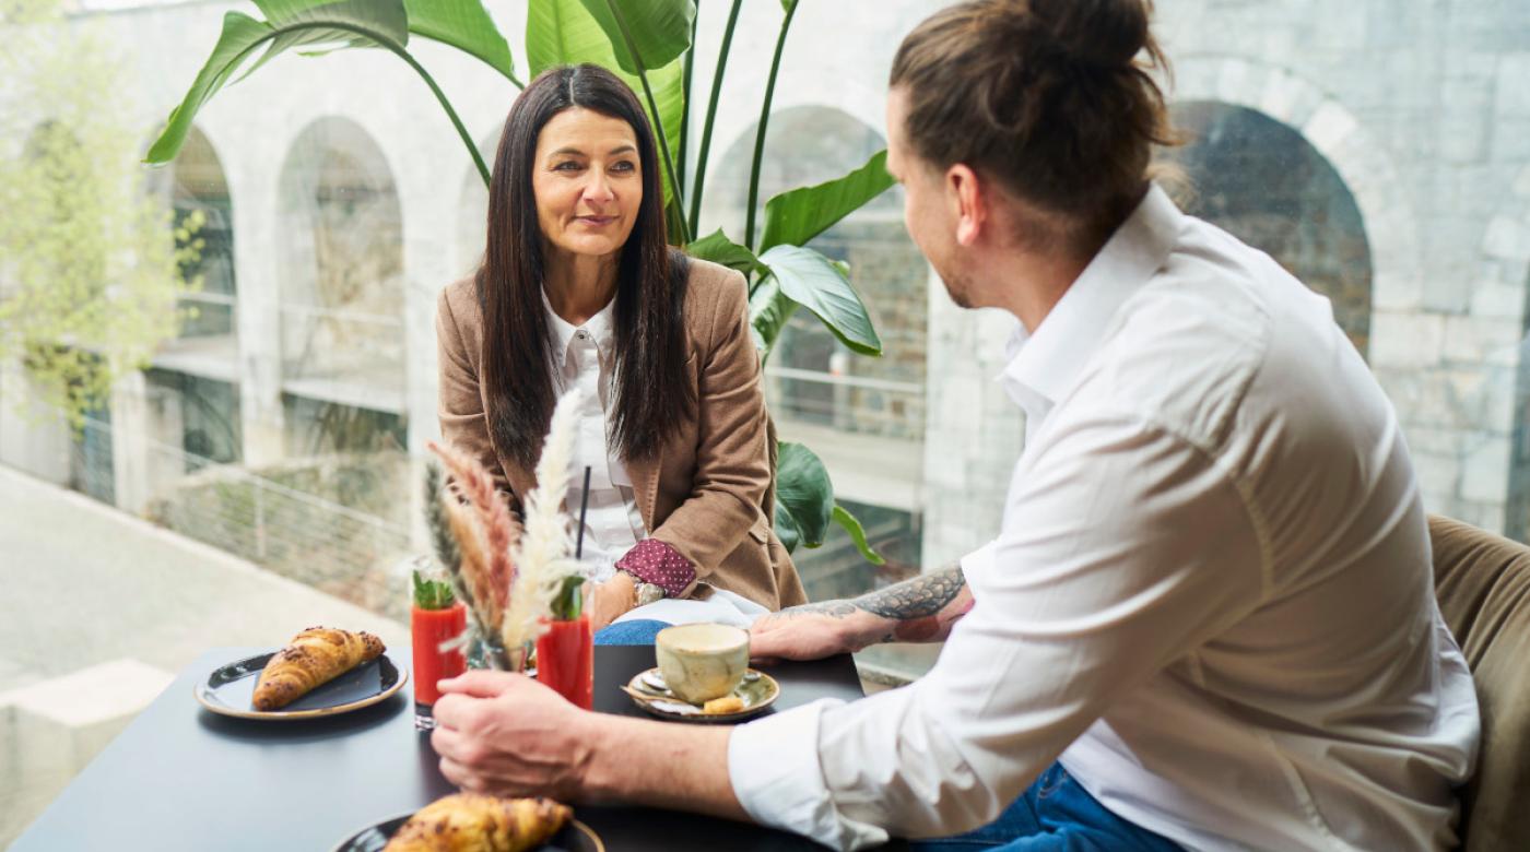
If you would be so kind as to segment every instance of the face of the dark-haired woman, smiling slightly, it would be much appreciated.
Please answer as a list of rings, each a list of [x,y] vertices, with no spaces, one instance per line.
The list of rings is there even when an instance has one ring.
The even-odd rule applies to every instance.
[[[643,205],[643,162],[632,125],[583,107],[552,116],[537,136],[531,191],[551,251],[617,252]]]

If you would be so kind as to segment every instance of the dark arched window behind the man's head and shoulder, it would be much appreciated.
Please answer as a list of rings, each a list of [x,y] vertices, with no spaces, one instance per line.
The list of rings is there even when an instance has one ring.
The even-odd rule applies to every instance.
[[[1267,252],[1333,301],[1360,355],[1371,337],[1371,246],[1334,167],[1294,128],[1247,107],[1186,101],[1174,121],[1192,141],[1166,151],[1190,179],[1187,213]]]

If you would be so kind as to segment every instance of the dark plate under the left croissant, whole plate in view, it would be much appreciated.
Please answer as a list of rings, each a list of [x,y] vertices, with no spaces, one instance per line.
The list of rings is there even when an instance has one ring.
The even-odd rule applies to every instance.
[[[196,699],[213,713],[240,719],[314,719],[387,701],[402,688],[404,681],[409,681],[409,672],[401,670],[384,653],[327,684],[320,684],[314,691],[282,710],[263,713],[251,707],[249,699],[256,694],[256,681],[260,679],[260,672],[275,655],[277,652],[260,653],[216,668],[207,676],[207,681],[196,685]]]

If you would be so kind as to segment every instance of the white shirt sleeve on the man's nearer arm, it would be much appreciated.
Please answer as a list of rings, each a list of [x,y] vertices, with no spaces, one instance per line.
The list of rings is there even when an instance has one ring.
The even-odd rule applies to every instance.
[[[991,821],[1114,699],[1258,606],[1258,529],[1190,442],[1112,413],[1050,424],[1001,535],[962,561],[976,603],[935,668],[737,728],[739,802],[838,849]]]

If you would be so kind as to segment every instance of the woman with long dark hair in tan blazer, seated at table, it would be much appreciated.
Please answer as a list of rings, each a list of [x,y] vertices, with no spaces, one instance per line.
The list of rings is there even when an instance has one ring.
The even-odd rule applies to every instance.
[[[742,277],[664,242],[647,116],[598,66],[543,72],[505,121],[488,246],[436,312],[441,431],[519,509],[565,390],[580,387],[574,486],[595,627],[747,624],[803,603],[771,529],[774,437]]]

